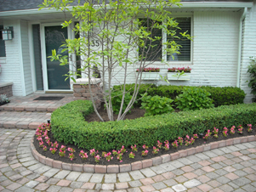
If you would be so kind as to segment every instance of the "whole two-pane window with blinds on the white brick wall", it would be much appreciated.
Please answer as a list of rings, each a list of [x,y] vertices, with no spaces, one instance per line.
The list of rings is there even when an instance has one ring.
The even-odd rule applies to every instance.
[[[145,19],[139,19],[141,21],[141,25],[144,27],[148,27],[149,29],[151,28],[151,25],[155,25],[156,22],[151,21],[151,20],[145,20]],[[154,46],[153,48],[150,49],[149,54],[147,54],[147,57],[144,56],[144,59],[146,61],[161,61],[166,60],[166,61],[175,61],[175,62],[188,62],[191,61],[191,40],[182,37],[180,35],[181,33],[184,33],[185,31],[186,34],[191,35],[191,17],[183,17],[183,18],[175,18],[175,20],[179,23],[179,28],[176,29],[176,36],[179,38],[174,38],[165,34],[162,34],[161,29],[153,29],[151,32],[151,37],[159,37],[159,40],[157,39],[154,42],[151,42],[151,44]],[[163,36],[163,37],[162,37]],[[160,38],[161,37],[161,38]],[[179,48],[179,53],[180,54],[167,54],[162,56],[162,42],[164,41],[175,41],[177,44],[179,44],[181,47]],[[150,42],[147,41],[145,42],[145,48],[148,49],[150,47]],[[142,48],[139,48],[139,56],[142,56]]]

